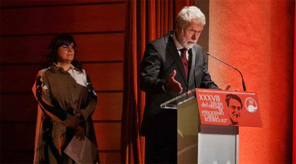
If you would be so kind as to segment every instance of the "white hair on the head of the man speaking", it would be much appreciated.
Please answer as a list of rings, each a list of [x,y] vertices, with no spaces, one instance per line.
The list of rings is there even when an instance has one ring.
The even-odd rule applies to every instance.
[[[195,6],[185,6],[182,8],[176,18],[176,25],[183,28],[188,22],[193,20],[205,25],[204,13],[202,13],[202,11]]]

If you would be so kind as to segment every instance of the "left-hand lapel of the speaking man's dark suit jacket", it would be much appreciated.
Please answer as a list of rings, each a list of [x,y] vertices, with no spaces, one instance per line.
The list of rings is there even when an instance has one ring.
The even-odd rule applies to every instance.
[[[185,76],[185,70],[184,70],[184,65],[182,63],[181,57],[178,53],[177,47],[173,41],[173,39],[170,37],[171,31],[169,32],[169,36],[165,37],[165,42],[167,43],[167,49],[169,50],[169,52],[171,53],[171,55],[173,56],[173,58],[175,59],[175,61],[178,64],[179,70],[182,74],[183,80],[185,82],[185,84],[187,85],[187,79]]]

